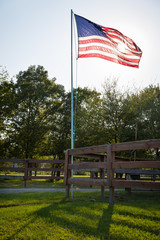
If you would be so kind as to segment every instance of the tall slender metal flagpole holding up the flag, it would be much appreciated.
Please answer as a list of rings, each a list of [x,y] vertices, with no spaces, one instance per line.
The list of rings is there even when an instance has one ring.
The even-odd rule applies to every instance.
[[[73,11],[71,9],[71,149],[74,149],[73,101]],[[71,156],[71,164],[73,164],[73,156]],[[71,177],[73,177],[73,170],[71,170]],[[71,185],[71,198],[73,198],[73,185]]]

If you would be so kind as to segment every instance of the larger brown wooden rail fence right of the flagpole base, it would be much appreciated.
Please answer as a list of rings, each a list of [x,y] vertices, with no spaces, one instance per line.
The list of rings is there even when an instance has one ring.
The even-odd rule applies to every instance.
[[[130,188],[147,188],[159,189],[160,179],[160,159],[158,160],[131,160],[118,158],[115,153],[118,151],[154,149],[160,148],[160,139],[134,141],[124,143],[114,143],[101,146],[69,149],[65,155],[64,183],[66,184],[66,196],[70,195],[71,184],[85,186],[101,186],[101,193],[104,196],[104,188],[109,187],[109,203],[114,203],[115,187]],[[87,158],[88,161],[73,161],[71,159]],[[89,160],[90,159],[90,160]],[[94,162],[91,161],[94,159]],[[95,162],[97,161],[97,162]],[[78,178],[72,177],[72,171],[99,172],[97,178]],[[138,175],[139,179],[132,180],[127,178],[116,178],[117,174],[125,173],[127,175]],[[145,178],[140,178],[145,175]],[[146,176],[152,176],[150,180]]]

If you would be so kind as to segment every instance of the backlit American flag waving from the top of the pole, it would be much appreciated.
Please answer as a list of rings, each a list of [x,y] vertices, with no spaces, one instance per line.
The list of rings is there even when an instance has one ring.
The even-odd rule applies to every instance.
[[[141,49],[114,28],[103,27],[75,14],[78,57],[99,57],[129,67],[139,67]]]

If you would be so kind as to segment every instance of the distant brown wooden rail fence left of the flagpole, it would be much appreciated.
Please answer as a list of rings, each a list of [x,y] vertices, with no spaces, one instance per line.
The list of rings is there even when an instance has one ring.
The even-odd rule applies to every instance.
[[[11,164],[9,164],[11,163]],[[44,164],[50,164],[51,167],[43,167]],[[0,175],[0,178],[23,178],[24,186],[29,179],[49,179],[60,180],[64,177],[64,160],[42,160],[42,159],[0,159],[0,171],[22,172],[23,175]],[[9,165],[9,166],[7,166]],[[12,165],[12,166],[10,166]],[[42,165],[42,167],[40,166]],[[33,176],[33,172],[35,175]],[[51,172],[50,176],[39,176],[37,172]],[[59,173],[58,176],[55,173]]]

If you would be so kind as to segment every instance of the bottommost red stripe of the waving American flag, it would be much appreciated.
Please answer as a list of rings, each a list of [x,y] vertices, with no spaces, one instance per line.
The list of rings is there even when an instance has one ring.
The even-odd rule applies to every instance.
[[[123,62],[119,59],[115,59],[115,58],[111,58],[111,57],[108,57],[108,56],[104,56],[104,55],[101,55],[101,54],[98,54],[98,53],[90,53],[90,54],[80,54],[78,56],[79,58],[85,58],[85,57],[98,57],[98,58],[103,58],[105,60],[109,60],[111,62],[115,62],[115,63],[119,63],[119,64],[122,64],[122,65],[125,65],[125,66],[128,66],[128,67],[135,67],[135,68],[138,68],[138,64],[135,64],[135,65],[132,65],[132,64],[129,64],[129,63],[126,63],[126,62]]]

